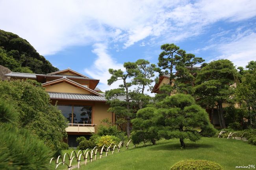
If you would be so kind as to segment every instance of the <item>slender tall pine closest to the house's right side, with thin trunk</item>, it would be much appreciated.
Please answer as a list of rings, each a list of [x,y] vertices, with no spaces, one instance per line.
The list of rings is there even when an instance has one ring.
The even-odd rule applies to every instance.
[[[137,65],[133,62],[125,62],[124,63],[125,71],[121,69],[109,69],[109,73],[111,74],[110,79],[108,79],[108,85],[117,82],[118,80],[122,81],[122,84],[119,85],[120,88],[109,90],[106,92],[106,98],[109,100],[110,104],[109,112],[114,112],[118,115],[122,115],[126,117],[126,132],[128,137],[130,137],[130,119],[133,115],[132,111],[132,102],[129,96],[129,88],[132,86],[132,82],[128,82],[128,78],[133,77],[138,69]],[[125,102],[119,101],[117,96],[125,95]],[[122,107],[122,106],[125,106]]]

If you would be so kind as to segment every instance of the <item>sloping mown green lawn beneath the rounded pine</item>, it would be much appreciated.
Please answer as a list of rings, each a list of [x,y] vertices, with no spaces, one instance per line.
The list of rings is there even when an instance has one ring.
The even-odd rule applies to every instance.
[[[256,146],[244,141],[203,137],[196,143],[188,140],[185,143],[186,149],[180,148],[178,139],[161,140],[155,146],[136,148],[131,143],[128,150],[122,149],[113,155],[109,153],[87,165],[82,162],[80,170],[169,170],[174,163],[184,159],[215,161],[224,170],[256,164]]]

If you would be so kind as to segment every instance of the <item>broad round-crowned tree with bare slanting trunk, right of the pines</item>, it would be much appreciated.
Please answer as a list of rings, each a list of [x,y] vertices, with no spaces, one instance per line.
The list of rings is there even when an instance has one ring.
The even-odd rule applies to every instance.
[[[223,116],[223,103],[229,102],[234,95],[237,71],[230,60],[216,60],[204,66],[197,75],[195,95],[199,99],[213,97],[216,104],[220,126],[226,128]]]

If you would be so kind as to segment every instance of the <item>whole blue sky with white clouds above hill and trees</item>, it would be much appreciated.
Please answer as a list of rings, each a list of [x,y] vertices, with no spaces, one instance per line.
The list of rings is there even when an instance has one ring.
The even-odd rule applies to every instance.
[[[162,44],[206,62],[256,60],[256,0],[0,0],[0,29],[55,67],[100,79],[102,91],[119,84],[108,86],[109,68],[157,64]]]

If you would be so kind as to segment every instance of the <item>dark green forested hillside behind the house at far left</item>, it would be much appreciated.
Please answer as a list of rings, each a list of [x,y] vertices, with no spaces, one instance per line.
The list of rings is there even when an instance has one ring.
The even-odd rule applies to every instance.
[[[0,65],[22,73],[47,74],[58,71],[27,40],[3,30],[0,30]]]

